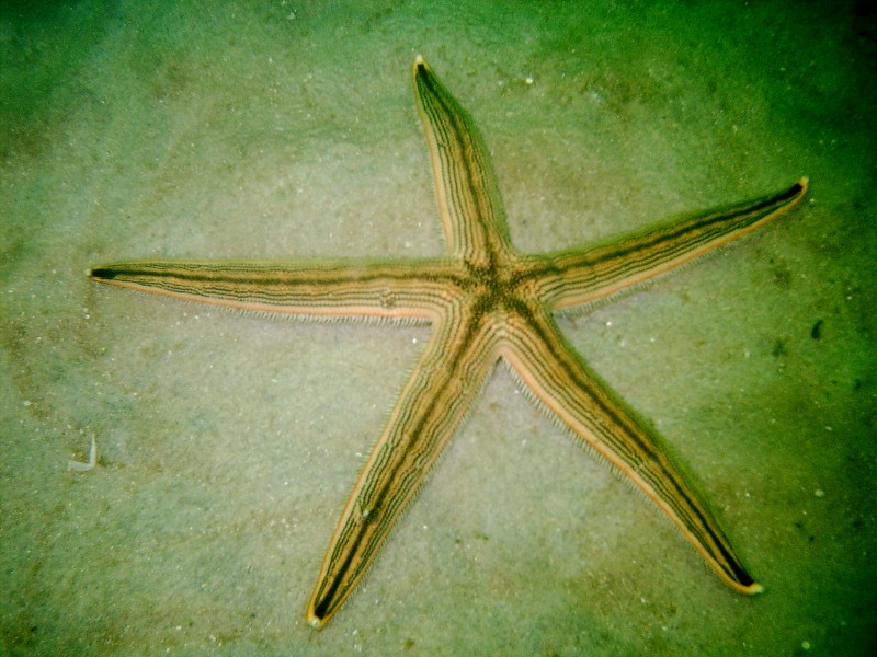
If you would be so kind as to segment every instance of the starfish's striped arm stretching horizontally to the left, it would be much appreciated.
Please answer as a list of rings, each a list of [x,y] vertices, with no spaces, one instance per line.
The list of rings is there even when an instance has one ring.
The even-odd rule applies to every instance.
[[[239,310],[430,320],[444,303],[458,269],[436,260],[139,261],[92,267],[89,276],[109,285]]]

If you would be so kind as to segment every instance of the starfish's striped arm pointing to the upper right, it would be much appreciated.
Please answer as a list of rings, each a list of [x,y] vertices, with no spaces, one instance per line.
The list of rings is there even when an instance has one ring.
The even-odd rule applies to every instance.
[[[710,210],[594,249],[544,256],[539,297],[555,310],[590,303],[692,262],[764,226],[797,204],[807,178],[785,192],[730,208]]]

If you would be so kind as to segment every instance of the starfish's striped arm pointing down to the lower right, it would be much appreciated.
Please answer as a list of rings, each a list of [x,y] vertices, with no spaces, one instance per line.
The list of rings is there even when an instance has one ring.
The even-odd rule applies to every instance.
[[[550,318],[533,315],[501,354],[537,401],[654,502],[721,579],[744,593],[762,590],[660,440],[588,371]]]

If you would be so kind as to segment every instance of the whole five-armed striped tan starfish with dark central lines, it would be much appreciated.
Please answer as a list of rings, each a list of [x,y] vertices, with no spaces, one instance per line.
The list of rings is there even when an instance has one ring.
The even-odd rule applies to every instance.
[[[446,240],[442,255],[135,261],[89,272],[100,283],[232,309],[432,324],[338,521],[307,606],[309,624],[324,626],[360,584],[499,360],[537,405],[658,505],[727,585],[761,591],[661,438],[589,369],[554,315],[629,290],[755,230],[798,203],[807,178],[611,243],[522,254],[512,246],[471,118],[420,56],[412,79]]]

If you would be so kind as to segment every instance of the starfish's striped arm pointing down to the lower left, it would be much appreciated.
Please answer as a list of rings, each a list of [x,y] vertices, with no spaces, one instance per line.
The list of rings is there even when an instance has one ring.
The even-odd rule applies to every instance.
[[[322,627],[375,561],[496,362],[487,331],[436,324],[341,514],[306,618]]]

